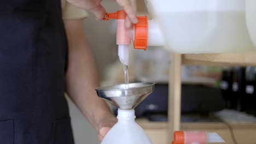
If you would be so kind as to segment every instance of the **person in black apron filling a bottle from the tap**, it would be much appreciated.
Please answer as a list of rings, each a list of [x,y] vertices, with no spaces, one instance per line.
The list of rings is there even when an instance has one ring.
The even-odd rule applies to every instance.
[[[69,1],[98,20],[106,12],[100,2]],[[117,2],[128,12],[126,27],[136,23],[135,1]],[[65,91],[102,140],[117,119],[94,91],[82,20],[63,22],[60,0],[3,1],[0,9],[0,143],[74,143]]]

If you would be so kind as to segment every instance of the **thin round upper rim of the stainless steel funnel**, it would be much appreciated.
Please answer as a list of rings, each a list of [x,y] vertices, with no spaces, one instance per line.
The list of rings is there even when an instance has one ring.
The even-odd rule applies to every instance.
[[[137,87],[129,87],[129,88],[113,88],[113,89],[104,89],[106,87],[110,87],[110,86],[105,86],[105,87],[97,87],[95,89],[95,91],[120,91],[120,89],[130,90],[130,89],[137,89],[137,88],[143,88],[143,87],[149,87],[149,86],[154,86],[155,85],[155,82],[135,82],[135,83],[129,83],[129,84],[136,84],[136,83],[144,83],[144,84],[148,84],[148,85],[137,86]],[[125,83],[117,83],[116,85],[125,85]]]

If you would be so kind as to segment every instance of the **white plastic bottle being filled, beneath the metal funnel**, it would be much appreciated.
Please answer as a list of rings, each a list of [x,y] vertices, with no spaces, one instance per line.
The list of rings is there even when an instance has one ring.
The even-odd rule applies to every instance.
[[[152,144],[144,130],[135,122],[134,110],[118,110],[118,122],[109,130],[101,144]]]

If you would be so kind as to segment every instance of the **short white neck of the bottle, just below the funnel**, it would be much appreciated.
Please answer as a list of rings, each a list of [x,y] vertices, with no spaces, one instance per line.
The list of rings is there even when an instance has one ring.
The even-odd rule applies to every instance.
[[[118,109],[118,121],[135,121],[135,111],[132,110],[120,110]]]

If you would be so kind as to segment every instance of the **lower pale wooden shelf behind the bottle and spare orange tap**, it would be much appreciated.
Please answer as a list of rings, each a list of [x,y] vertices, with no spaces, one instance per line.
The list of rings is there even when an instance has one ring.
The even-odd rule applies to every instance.
[[[149,122],[147,119],[136,119],[136,122],[149,135],[153,143],[166,144],[172,137],[168,133],[167,122]],[[253,144],[256,141],[256,123],[232,123],[230,124],[237,143]],[[227,144],[234,144],[230,129],[222,122],[186,122],[181,123],[181,130],[202,130],[218,133]]]

